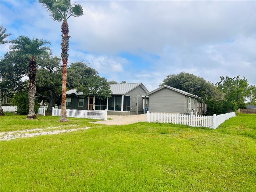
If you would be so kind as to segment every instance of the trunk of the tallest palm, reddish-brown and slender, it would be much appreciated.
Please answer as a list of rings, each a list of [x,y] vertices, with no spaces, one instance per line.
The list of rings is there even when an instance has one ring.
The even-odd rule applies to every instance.
[[[68,64],[68,50],[69,50],[69,26],[66,21],[61,25],[62,41],[61,41],[61,57],[62,57],[62,102],[60,122],[68,122],[66,113],[66,87],[67,87],[67,64]]]

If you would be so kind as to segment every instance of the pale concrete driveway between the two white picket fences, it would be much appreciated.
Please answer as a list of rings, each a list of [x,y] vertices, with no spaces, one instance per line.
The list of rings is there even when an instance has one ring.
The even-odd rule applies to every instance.
[[[105,120],[105,121],[97,121],[97,122],[91,122],[94,124],[105,124],[105,125],[128,125],[132,123],[137,122],[146,122],[147,121],[147,114],[141,114],[141,115],[108,115],[108,118],[111,118],[111,120]]]

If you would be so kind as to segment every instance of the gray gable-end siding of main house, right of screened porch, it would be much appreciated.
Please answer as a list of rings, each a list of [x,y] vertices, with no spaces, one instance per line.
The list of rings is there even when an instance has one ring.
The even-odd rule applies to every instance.
[[[125,94],[125,95],[131,96],[131,110],[130,110],[131,115],[136,114],[137,95],[144,95],[144,94],[146,94],[146,91],[144,91],[144,89],[141,86],[138,86],[135,89],[133,89],[132,91]],[[144,113],[143,98],[139,97],[138,98],[138,114],[142,114],[142,113]]]

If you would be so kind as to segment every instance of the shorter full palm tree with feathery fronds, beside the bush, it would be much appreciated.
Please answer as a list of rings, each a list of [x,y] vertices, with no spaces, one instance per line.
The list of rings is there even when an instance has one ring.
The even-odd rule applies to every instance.
[[[29,77],[29,89],[28,89],[28,107],[29,112],[27,119],[36,119],[35,114],[35,92],[36,92],[36,75],[37,75],[37,62],[35,56],[37,55],[48,55],[51,53],[51,48],[45,46],[51,44],[49,41],[45,41],[43,38],[40,40],[33,37],[31,40],[26,36],[19,36],[18,38],[11,41],[12,45],[9,47],[10,50],[17,50],[20,54],[31,55],[31,59],[28,66],[28,77]]]

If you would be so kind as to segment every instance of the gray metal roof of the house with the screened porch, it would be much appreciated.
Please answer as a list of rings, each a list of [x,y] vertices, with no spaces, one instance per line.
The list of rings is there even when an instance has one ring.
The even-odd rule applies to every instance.
[[[146,93],[149,93],[147,88],[142,83],[123,83],[123,84],[110,84],[110,90],[112,94],[126,94],[136,87],[141,86]],[[67,91],[67,94],[82,95],[82,92],[76,92],[76,89]]]

